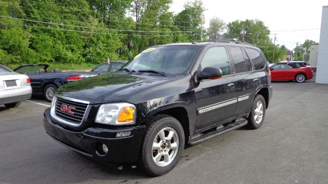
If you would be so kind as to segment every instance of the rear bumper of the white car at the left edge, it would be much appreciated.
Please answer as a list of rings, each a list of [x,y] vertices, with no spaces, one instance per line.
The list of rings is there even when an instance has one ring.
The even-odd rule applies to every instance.
[[[31,86],[6,89],[0,91],[0,104],[20,102],[31,98]]]

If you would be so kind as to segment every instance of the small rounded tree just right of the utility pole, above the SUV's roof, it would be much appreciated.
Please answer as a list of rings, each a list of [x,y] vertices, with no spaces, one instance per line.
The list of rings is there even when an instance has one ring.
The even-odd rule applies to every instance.
[[[211,18],[210,26],[207,29],[209,39],[219,39],[225,28],[226,23],[223,20],[218,17]]]

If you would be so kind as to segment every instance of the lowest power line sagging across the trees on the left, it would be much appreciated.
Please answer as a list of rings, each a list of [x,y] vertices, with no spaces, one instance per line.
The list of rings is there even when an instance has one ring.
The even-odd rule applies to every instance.
[[[101,32],[90,32],[90,31],[77,31],[77,30],[57,29],[57,28],[49,28],[49,27],[39,27],[39,26],[29,26],[29,25],[14,24],[14,23],[3,22],[3,21],[0,21],[0,24],[7,24],[7,25],[14,25],[14,26],[22,26],[22,27],[31,27],[31,28],[40,28],[40,29],[49,29],[49,30],[58,30],[58,31],[70,31],[70,32],[79,32],[79,33],[92,33],[92,34],[107,34],[107,35],[124,35],[124,36],[197,36],[197,35],[200,35],[200,34],[190,34],[190,35],[134,35],[134,34],[101,33]]]

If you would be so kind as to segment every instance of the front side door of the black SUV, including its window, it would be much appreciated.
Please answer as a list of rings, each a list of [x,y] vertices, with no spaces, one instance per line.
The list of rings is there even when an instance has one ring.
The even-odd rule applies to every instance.
[[[204,54],[199,70],[218,67],[222,78],[202,80],[195,86],[197,123],[195,130],[227,120],[233,116],[237,103],[235,77],[231,75],[226,47],[212,47]]]

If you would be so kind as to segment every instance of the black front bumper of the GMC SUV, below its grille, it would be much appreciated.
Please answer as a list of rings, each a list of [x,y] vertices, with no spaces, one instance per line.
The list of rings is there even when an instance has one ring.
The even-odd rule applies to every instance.
[[[119,129],[90,127],[81,132],[67,130],[50,119],[50,109],[44,113],[46,132],[57,142],[85,156],[117,163],[131,163],[138,159],[145,126]],[[117,132],[131,131],[127,137],[116,137]],[[106,155],[97,152],[99,144],[108,147]]]

